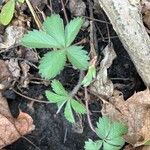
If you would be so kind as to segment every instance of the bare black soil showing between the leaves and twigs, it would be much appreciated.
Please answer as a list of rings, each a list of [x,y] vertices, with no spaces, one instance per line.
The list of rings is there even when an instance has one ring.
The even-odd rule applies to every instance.
[[[54,4],[53,9],[57,13],[62,14],[60,3],[56,0],[53,0],[52,3]],[[103,31],[105,31],[106,27],[104,25],[103,28]],[[111,35],[115,35],[112,29],[110,31]],[[104,33],[104,35],[105,34],[106,33]],[[86,37],[87,32],[82,36]],[[121,90],[127,99],[134,91],[142,90],[144,86],[119,39],[113,39],[112,42],[117,53],[117,58],[109,69],[109,76],[112,78],[116,88]],[[100,48],[104,45],[106,45],[106,43],[99,41]],[[59,75],[59,79],[68,90],[72,90],[77,83],[78,72],[68,67]],[[44,96],[46,89],[48,89],[48,87],[43,85],[30,84],[29,89],[23,90],[23,94],[38,99],[42,95]],[[86,115],[82,118],[84,131],[79,134],[72,130],[72,125],[63,117],[63,112],[60,112],[57,116],[55,115],[57,108],[54,104],[34,103],[33,109],[31,109],[27,105],[30,101],[16,95],[11,90],[6,91],[5,96],[8,99],[11,112],[14,116],[18,115],[19,109],[32,116],[36,129],[27,135],[26,138],[40,150],[83,150],[84,142],[88,138],[96,139],[96,135],[89,128]],[[45,97],[43,99],[47,101]],[[98,112],[100,111],[100,102],[96,100],[92,101],[90,110],[91,112],[94,111],[91,118],[95,125],[98,117],[101,115],[100,112]],[[64,142],[66,131],[66,141]],[[7,147],[8,150],[38,150],[38,148],[34,147],[24,138],[19,139]]]

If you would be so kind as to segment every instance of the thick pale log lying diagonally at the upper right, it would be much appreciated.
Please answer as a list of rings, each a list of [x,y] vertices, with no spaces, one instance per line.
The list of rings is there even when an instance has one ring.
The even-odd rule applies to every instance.
[[[143,25],[137,1],[139,0],[98,0],[137,72],[145,85],[150,87],[150,38]]]

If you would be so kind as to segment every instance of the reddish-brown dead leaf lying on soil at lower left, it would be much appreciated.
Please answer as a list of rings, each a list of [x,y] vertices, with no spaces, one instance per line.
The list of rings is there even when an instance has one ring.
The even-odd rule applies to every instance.
[[[0,93],[0,149],[34,130],[32,118],[20,112],[17,119],[10,113],[6,99]]]

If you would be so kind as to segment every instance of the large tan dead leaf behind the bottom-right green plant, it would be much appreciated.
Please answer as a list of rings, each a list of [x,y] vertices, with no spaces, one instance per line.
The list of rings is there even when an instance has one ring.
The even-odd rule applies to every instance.
[[[102,114],[113,121],[122,121],[128,126],[126,142],[134,147],[141,146],[150,140],[150,91],[135,93],[126,101],[116,94],[105,103]]]

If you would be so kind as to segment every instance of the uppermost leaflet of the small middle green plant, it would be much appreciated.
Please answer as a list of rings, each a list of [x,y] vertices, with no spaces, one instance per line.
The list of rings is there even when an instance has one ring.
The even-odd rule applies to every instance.
[[[63,96],[68,96],[68,92],[64,89],[64,87],[58,80],[53,80],[51,86],[55,93]]]

